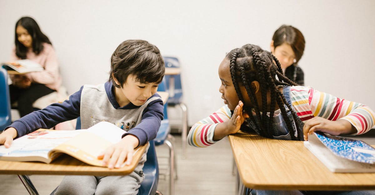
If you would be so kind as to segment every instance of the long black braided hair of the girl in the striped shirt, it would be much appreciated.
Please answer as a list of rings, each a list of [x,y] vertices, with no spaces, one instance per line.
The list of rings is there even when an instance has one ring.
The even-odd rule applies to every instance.
[[[281,65],[272,53],[261,49],[259,46],[246,44],[241,48],[231,50],[226,58],[229,59],[229,69],[239,99],[244,102],[240,86],[245,87],[247,96],[249,96],[252,106],[244,105],[244,110],[249,113],[248,123],[252,122],[261,136],[272,138],[272,122],[275,113],[276,103],[278,104],[281,114],[290,130],[292,140],[303,140],[302,130],[297,132],[293,128],[294,121],[303,126],[303,122],[296,112],[291,108],[284,95],[276,86],[294,86],[297,85],[287,78],[282,71]],[[258,100],[254,89],[251,87],[252,81],[258,81],[261,89],[262,108],[259,108]],[[267,117],[267,92],[270,91],[270,117]],[[292,112],[294,121],[289,120],[287,110],[284,104]],[[261,113],[261,111],[263,111]],[[255,116],[252,114],[255,112]],[[256,120],[257,119],[257,120]],[[250,121],[249,121],[250,120]],[[269,120],[269,121],[267,121]],[[259,121],[259,123],[257,123]],[[298,125],[296,125],[299,128]],[[293,136],[297,134],[296,136]]]

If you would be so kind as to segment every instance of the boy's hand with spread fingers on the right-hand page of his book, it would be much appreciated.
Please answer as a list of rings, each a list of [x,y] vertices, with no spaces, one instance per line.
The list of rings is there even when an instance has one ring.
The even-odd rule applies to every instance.
[[[103,165],[108,168],[120,168],[126,160],[126,165],[132,163],[134,148],[138,146],[137,137],[129,134],[123,137],[120,142],[105,149],[98,159],[103,159]]]

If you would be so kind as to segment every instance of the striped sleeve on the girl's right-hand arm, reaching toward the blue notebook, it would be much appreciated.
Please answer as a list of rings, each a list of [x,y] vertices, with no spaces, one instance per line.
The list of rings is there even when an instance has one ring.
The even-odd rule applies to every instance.
[[[303,86],[291,87],[291,99],[294,110],[302,121],[313,117],[332,121],[344,119],[356,127],[356,134],[366,133],[374,127],[375,113],[366,105]]]

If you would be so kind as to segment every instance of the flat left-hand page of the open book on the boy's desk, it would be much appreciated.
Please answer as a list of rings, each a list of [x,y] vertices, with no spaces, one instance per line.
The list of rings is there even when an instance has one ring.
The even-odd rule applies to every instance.
[[[9,148],[1,145],[0,160],[50,163],[52,159],[48,159],[48,152],[78,133],[80,131],[36,130],[13,140]]]

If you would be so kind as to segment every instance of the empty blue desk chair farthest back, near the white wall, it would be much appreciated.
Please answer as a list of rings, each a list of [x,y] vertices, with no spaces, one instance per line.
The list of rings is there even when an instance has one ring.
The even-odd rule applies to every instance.
[[[186,140],[187,140],[187,108],[182,102],[182,86],[181,86],[181,74],[180,74],[180,62],[175,57],[163,56],[166,71],[166,91],[169,93],[167,105],[171,107],[179,106],[182,110],[181,120],[181,139],[182,139],[182,157],[186,157]],[[171,71],[169,71],[171,70]]]

